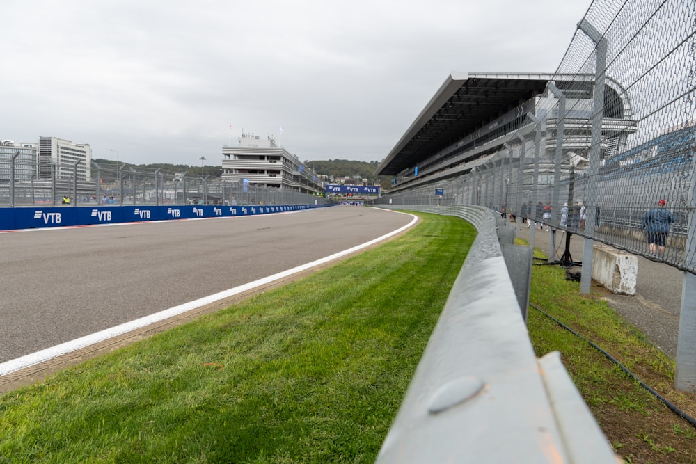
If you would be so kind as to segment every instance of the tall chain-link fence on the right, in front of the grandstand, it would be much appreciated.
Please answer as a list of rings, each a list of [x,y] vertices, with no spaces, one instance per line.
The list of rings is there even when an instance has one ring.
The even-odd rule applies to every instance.
[[[694,0],[595,1],[513,141],[378,202],[482,205],[696,272],[695,22]]]

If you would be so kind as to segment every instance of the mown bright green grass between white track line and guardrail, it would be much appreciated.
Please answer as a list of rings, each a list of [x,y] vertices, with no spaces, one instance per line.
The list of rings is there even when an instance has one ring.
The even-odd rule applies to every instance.
[[[0,398],[0,463],[373,462],[473,227],[331,269]]]

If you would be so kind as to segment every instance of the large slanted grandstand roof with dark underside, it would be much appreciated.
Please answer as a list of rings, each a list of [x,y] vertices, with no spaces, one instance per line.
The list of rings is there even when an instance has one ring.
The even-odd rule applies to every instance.
[[[557,77],[556,77],[557,78]],[[544,92],[553,74],[453,72],[377,168],[397,175]]]

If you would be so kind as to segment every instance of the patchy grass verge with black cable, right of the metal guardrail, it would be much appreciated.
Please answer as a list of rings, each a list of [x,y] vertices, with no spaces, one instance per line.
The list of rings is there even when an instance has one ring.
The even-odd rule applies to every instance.
[[[535,256],[543,257],[539,250]],[[674,360],[651,346],[603,300],[606,290],[566,280],[559,266],[534,266],[530,304],[610,353],[641,381],[696,417],[696,396],[673,389]],[[615,367],[587,342],[530,307],[530,339],[538,356],[560,351],[561,359],[606,438],[626,463],[696,463],[693,426]]]

